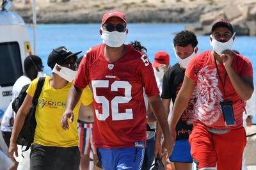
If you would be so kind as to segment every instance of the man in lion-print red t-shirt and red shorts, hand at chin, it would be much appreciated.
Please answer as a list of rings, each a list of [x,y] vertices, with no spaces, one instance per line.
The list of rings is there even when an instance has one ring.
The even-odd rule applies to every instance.
[[[230,50],[235,33],[229,22],[216,22],[211,32],[213,50],[191,59],[186,68],[173,106],[172,140],[176,137],[175,126],[196,86],[195,123],[189,143],[197,169],[239,170],[246,145],[245,101],[253,93],[252,64]]]

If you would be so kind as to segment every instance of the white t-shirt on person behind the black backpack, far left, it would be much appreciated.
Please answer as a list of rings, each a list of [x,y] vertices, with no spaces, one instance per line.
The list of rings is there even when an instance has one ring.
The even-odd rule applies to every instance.
[[[12,121],[14,120],[14,114],[12,110],[12,102],[13,100],[18,97],[20,90],[25,86],[26,84],[29,84],[31,80],[26,77],[25,75],[22,75],[17,79],[17,81],[14,83],[12,88],[12,101],[8,105],[6,111],[4,112],[4,116],[1,123],[1,130],[3,132],[12,132]]]

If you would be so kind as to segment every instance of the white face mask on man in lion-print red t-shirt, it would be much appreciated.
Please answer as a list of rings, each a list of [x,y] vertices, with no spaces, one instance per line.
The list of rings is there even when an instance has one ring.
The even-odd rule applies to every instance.
[[[233,45],[233,43],[234,43],[233,38],[234,38],[235,35],[236,35],[236,32],[235,32],[234,35],[230,38],[230,40],[228,40],[227,42],[224,42],[224,43],[223,43],[223,42],[218,42],[217,40],[215,40],[215,39],[213,38],[212,35],[210,35],[211,38],[212,38],[212,40],[210,40],[210,44],[211,44],[211,46],[213,47],[213,50],[214,50],[217,54],[219,54],[219,55],[221,55],[221,53],[222,53],[224,50],[230,50],[231,47],[232,47],[232,45]]]

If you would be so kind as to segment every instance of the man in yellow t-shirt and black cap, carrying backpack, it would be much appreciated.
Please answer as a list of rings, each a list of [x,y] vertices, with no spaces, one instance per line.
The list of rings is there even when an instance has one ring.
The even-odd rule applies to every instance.
[[[52,69],[52,76],[45,77],[44,86],[36,105],[37,124],[30,155],[30,169],[32,170],[79,169],[77,125],[70,123],[70,129],[65,131],[60,125],[68,91],[76,75],[76,55],[79,53],[72,53],[66,47],[58,47],[49,54],[47,65]],[[29,112],[37,83],[38,79],[31,82],[27,90],[28,95],[17,112],[9,149],[13,160],[15,160],[13,153],[17,155],[16,139]],[[82,95],[83,98],[79,100],[74,109],[75,122],[80,105],[92,104],[92,92],[88,87],[84,89]]]

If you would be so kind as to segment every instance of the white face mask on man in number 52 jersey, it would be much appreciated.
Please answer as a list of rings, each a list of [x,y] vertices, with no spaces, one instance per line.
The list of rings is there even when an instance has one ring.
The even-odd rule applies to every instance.
[[[104,31],[102,28],[102,35],[100,36],[103,43],[106,43],[109,47],[120,47],[124,44],[127,33],[125,32],[118,32],[118,31]]]

